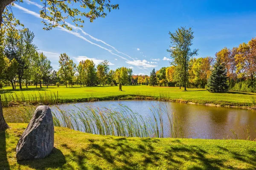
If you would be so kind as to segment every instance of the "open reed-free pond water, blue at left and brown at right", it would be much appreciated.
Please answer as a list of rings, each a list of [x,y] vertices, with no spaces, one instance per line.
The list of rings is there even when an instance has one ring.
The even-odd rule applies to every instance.
[[[248,134],[246,129],[250,129],[250,138],[256,139],[256,111],[239,108],[223,108],[205,105],[190,105],[176,102],[162,101],[140,101],[140,100],[121,100],[121,101],[102,101],[84,102],[75,104],[58,105],[61,110],[75,110],[76,107],[92,106],[95,108],[119,109],[121,105],[126,105],[132,111],[139,113],[143,117],[153,118],[150,108],[161,105],[167,107],[170,115],[178,118],[179,134],[183,138],[200,139],[234,139],[234,132],[241,139]],[[55,106],[51,109],[57,112]],[[163,115],[164,134],[170,133],[167,115]],[[248,128],[249,127],[249,128]]]

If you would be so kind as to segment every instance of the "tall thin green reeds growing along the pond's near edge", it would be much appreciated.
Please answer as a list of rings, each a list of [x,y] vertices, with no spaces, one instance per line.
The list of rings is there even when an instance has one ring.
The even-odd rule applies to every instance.
[[[169,113],[165,106],[152,106],[154,119],[141,116],[125,105],[119,105],[119,110],[87,105],[74,107],[73,110],[64,111],[56,105],[56,109],[52,109],[54,125],[100,135],[159,138],[180,136],[178,118],[174,113]],[[35,109],[34,105],[12,107],[10,111],[18,114],[4,114],[6,122],[29,123]],[[167,127],[170,128],[170,134],[164,134],[164,114],[168,115]]]

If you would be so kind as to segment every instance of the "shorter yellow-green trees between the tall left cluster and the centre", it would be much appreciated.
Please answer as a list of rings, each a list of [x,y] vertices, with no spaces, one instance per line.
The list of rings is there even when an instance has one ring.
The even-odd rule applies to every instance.
[[[60,69],[57,76],[61,83],[79,84],[80,86],[93,85],[131,85],[132,69],[121,67],[115,71],[109,69],[109,62],[104,60],[99,65],[95,65],[93,60],[82,60],[76,66],[67,54],[61,54],[59,58]]]

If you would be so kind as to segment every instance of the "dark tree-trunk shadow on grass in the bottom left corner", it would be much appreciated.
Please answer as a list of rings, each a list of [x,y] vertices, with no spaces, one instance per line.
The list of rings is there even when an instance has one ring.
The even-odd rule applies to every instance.
[[[7,153],[6,153],[6,136],[9,134],[5,131],[0,131],[0,169],[10,170]]]

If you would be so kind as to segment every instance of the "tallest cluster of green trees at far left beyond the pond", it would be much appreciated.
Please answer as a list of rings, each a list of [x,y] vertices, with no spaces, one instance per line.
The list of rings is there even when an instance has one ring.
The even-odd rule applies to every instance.
[[[8,85],[11,83],[13,89],[16,89],[16,82],[20,89],[22,83],[28,86],[31,82],[42,87],[43,81],[49,85],[56,78],[49,59],[33,44],[34,37],[34,33],[27,28],[1,34],[0,81]]]

